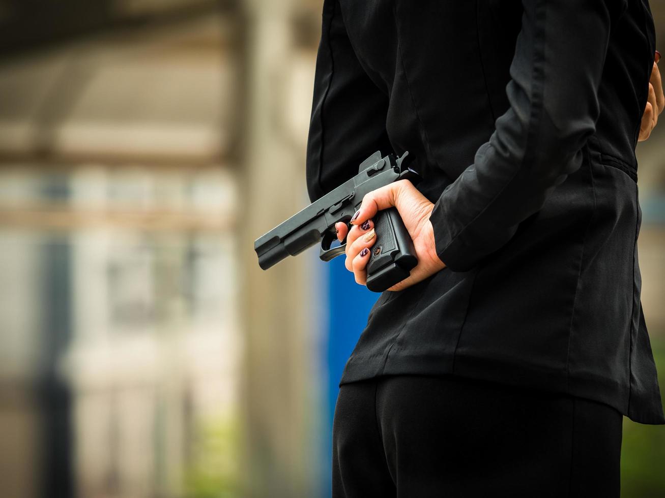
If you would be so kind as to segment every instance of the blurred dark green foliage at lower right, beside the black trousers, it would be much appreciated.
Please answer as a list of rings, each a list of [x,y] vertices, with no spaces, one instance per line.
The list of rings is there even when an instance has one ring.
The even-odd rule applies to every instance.
[[[665,341],[652,342],[660,392],[665,400]],[[665,497],[665,426],[644,426],[624,417],[621,496]]]

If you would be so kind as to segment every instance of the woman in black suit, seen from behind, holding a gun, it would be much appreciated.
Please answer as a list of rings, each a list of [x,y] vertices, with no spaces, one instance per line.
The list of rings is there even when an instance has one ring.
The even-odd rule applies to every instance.
[[[377,149],[423,177],[336,226],[359,284],[377,210],[419,263],[344,369],[335,497],[618,496],[622,415],[665,423],[636,256],[654,48],[646,0],[325,0],[311,199]]]

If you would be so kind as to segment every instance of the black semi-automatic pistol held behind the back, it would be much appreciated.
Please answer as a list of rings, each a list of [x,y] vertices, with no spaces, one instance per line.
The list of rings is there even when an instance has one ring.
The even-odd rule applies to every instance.
[[[420,175],[406,167],[407,155],[408,152],[402,157],[393,154],[382,157],[381,152],[376,151],[362,161],[358,175],[257,238],[254,250],[259,256],[259,266],[267,270],[318,242],[321,242],[319,257],[323,261],[344,254],[346,240],[340,246],[331,247],[337,240],[334,225],[340,221],[348,224],[366,193],[398,180],[408,179],[414,185],[420,181]],[[373,220],[376,242],[366,266],[366,285],[371,291],[382,292],[407,278],[418,259],[396,208],[379,211]]]

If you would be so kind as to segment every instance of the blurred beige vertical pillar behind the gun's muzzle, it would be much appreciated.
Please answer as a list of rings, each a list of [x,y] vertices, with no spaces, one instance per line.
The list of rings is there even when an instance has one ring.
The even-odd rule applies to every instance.
[[[245,369],[245,490],[251,497],[318,495],[313,482],[311,254],[259,268],[253,242],[309,202],[305,157],[285,116],[295,0],[244,4],[245,101],[239,254]],[[309,97],[311,98],[311,97]],[[308,263],[309,262],[309,263]]]

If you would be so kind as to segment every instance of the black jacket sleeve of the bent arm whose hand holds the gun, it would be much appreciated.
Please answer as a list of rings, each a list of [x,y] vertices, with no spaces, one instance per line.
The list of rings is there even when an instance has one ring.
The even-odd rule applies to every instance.
[[[436,252],[451,270],[469,270],[503,246],[580,167],[600,114],[614,8],[604,0],[523,0],[509,109],[430,218]]]

